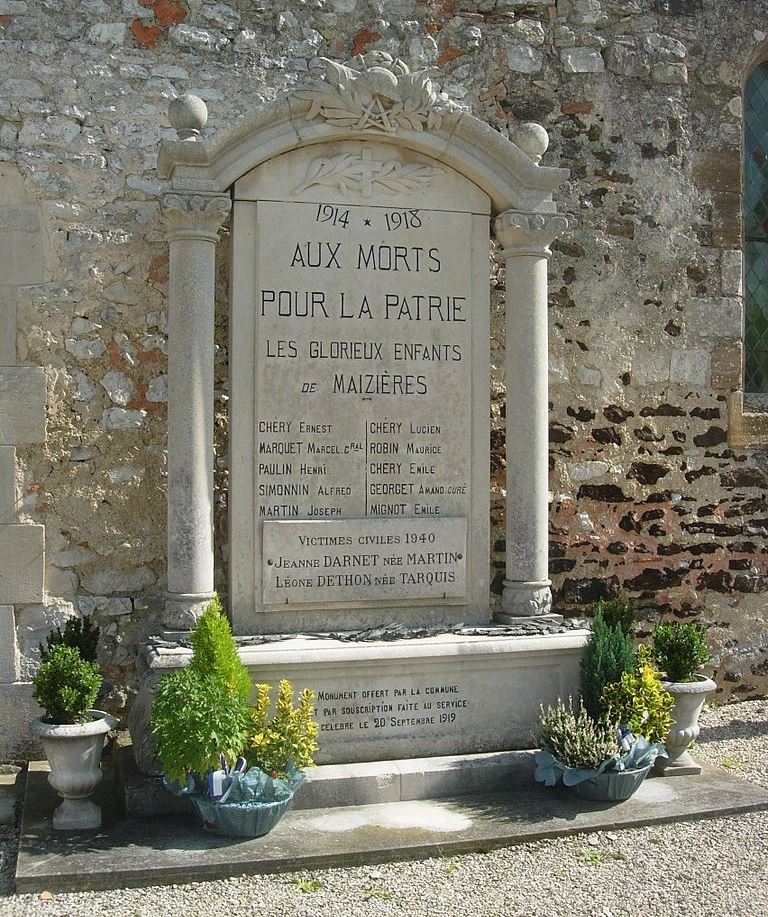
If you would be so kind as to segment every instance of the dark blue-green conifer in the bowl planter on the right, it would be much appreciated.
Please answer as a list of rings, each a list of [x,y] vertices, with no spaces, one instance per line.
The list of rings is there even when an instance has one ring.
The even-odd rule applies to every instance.
[[[624,672],[635,671],[632,637],[620,621],[609,624],[600,603],[594,608],[592,631],[581,654],[581,700],[593,720],[608,712],[603,704],[606,685],[620,681]]]

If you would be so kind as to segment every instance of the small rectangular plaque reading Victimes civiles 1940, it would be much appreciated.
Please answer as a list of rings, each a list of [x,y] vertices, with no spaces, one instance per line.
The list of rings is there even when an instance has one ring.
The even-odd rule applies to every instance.
[[[467,521],[265,522],[264,604],[461,598]]]

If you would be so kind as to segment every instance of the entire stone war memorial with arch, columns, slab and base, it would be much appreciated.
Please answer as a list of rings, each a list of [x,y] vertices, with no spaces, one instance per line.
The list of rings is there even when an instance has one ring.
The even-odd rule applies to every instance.
[[[232,207],[229,606],[252,677],[316,692],[321,763],[527,747],[539,703],[575,692],[584,640],[541,623],[547,256],[567,227],[552,202],[567,173],[538,165],[542,128],[515,145],[426,72],[380,52],[323,63],[317,87],[210,147],[200,101],[177,100],[179,140],[161,149],[173,185],[166,637],[213,591],[214,252]],[[507,278],[495,624],[491,222]],[[365,639],[387,634],[403,639]],[[145,651],[132,732],[147,769],[153,681],[188,656],[168,640]]]

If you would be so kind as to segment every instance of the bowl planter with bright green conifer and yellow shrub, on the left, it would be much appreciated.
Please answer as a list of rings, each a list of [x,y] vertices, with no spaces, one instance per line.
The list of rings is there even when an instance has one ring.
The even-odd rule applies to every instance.
[[[313,695],[251,682],[229,622],[212,601],[190,635],[192,660],[158,682],[150,722],[171,792],[187,796],[208,831],[261,837],[290,808],[317,748]]]

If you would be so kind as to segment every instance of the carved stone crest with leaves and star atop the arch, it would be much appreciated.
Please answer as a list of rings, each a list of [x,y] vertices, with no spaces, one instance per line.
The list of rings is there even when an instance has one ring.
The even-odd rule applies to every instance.
[[[354,57],[351,63],[360,69],[327,57],[320,60],[325,64],[322,87],[296,93],[311,103],[309,121],[322,117],[336,127],[393,134],[399,129],[437,129],[455,109],[437,92],[426,70],[411,73],[403,61],[383,51]]]

